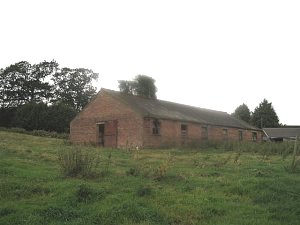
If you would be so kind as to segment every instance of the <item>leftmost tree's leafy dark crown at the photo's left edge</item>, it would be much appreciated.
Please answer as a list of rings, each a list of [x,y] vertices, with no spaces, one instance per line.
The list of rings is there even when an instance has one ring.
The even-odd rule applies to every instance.
[[[31,101],[49,102],[52,87],[48,81],[57,67],[55,61],[34,65],[21,61],[1,70],[1,107],[17,107]]]

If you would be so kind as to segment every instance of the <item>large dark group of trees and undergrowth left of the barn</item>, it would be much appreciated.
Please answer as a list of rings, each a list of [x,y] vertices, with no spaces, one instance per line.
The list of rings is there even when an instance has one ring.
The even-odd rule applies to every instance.
[[[92,82],[98,77],[90,69],[60,68],[55,60],[0,69],[0,126],[68,132],[96,94]]]

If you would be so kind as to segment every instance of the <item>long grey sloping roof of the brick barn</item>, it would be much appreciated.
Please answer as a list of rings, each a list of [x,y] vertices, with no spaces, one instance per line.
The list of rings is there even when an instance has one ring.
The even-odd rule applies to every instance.
[[[101,91],[105,91],[115,99],[129,105],[132,109],[139,112],[144,117],[259,130],[244,121],[234,118],[226,112],[133,96],[108,89],[101,89]]]

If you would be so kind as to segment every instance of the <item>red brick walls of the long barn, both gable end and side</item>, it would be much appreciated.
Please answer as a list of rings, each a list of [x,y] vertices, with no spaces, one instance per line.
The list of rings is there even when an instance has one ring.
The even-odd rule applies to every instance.
[[[107,121],[114,121],[116,124],[116,138],[110,137],[104,144],[107,144],[107,147],[117,146],[119,148],[180,146],[201,143],[204,140],[202,127],[207,127],[208,140],[224,140],[223,130],[227,129],[227,139],[238,141],[239,130],[241,130],[160,119],[160,134],[154,135],[152,134],[153,118],[142,118],[125,103],[117,101],[105,91],[100,91],[98,96],[71,122],[71,141],[73,143],[99,143],[97,123],[109,123]],[[181,133],[181,124],[187,125],[186,135]],[[253,131],[242,131],[243,140],[252,141]],[[257,133],[257,141],[261,141],[261,132],[255,132]]]

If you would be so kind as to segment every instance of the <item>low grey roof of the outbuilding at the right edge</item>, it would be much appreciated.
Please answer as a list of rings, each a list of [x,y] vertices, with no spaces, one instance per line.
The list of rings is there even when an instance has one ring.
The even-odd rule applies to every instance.
[[[263,130],[269,138],[294,138],[300,136],[300,128],[297,127],[264,128]]]

